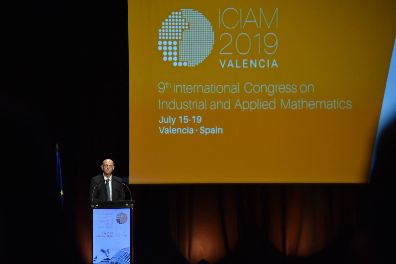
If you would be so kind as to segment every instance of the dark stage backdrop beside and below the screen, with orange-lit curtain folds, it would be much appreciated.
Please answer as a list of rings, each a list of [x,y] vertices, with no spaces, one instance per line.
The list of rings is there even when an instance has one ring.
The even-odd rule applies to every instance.
[[[29,2],[8,15],[7,198],[28,206],[6,215],[7,255],[88,263],[90,178],[105,158],[128,175],[127,2]],[[131,185],[135,262],[379,263],[393,255],[394,128],[387,137],[371,185]]]

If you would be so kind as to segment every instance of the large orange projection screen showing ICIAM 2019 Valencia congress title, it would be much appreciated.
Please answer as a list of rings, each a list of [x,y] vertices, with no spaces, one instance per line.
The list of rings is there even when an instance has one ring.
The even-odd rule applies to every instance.
[[[367,182],[396,1],[129,1],[129,183]]]

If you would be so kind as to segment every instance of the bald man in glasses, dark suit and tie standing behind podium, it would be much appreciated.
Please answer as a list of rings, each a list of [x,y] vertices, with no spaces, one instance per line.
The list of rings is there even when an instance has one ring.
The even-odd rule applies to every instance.
[[[102,174],[91,178],[89,199],[92,201],[122,201],[125,200],[122,179],[112,175],[114,162],[104,160],[101,165]]]

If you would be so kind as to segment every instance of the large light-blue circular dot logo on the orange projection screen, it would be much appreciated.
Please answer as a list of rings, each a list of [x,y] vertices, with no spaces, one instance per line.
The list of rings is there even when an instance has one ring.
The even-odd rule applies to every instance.
[[[194,67],[208,57],[215,32],[202,13],[192,9],[172,12],[158,30],[158,50],[173,66]]]

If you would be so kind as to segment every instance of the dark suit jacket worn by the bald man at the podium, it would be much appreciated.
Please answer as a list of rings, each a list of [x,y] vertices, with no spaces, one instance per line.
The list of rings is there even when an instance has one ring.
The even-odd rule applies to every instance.
[[[122,179],[111,175],[111,200],[122,201],[125,200],[124,185]],[[96,188],[95,185],[97,184]],[[93,190],[95,188],[95,191]],[[92,194],[93,192],[93,194]],[[103,173],[91,178],[91,185],[89,186],[89,201],[107,201],[106,182],[103,178]]]

